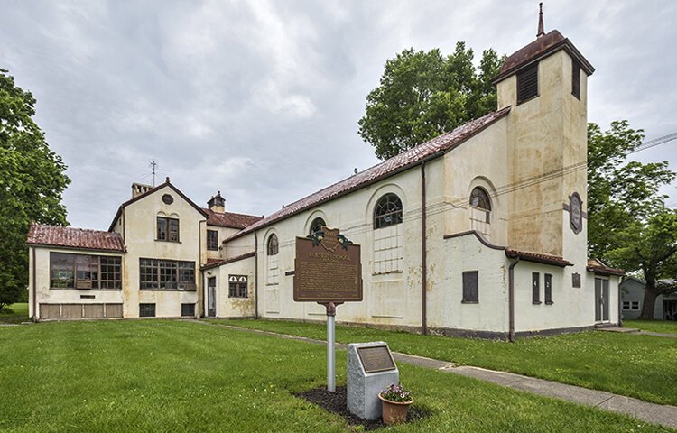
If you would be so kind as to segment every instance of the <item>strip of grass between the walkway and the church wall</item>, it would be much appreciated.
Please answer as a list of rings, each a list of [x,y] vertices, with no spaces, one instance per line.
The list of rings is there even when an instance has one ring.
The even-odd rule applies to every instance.
[[[325,339],[323,324],[278,320],[216,321],[292,336]],[[365,327],[336,327],[336,341],[384,340],[391,350],[457,364],[519,373],[677,405],[677,340],[611,332],[581,332],[519,339],[515,343],[420,336]]]

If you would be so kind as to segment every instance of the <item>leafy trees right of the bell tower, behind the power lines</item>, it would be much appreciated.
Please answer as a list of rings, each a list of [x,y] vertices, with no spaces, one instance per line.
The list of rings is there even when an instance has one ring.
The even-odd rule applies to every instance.
[[[643,274],[640,318],[653,318],[656,297],[677,291],[657,283],[677,270],[677,212],[659,194],[677,173],[667,161],[624,163],[643,138],[626,120],[612,122],[606,132],[588,126],[588,249],[591,257]]]

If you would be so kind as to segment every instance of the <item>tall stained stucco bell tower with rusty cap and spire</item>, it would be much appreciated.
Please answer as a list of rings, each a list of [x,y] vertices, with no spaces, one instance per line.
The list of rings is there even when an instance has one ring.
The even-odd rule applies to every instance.
[[[587,244],[580,217],[587,202],[588,77],[595,69],[561,32],[543,31],[542,5],[535,41],[508,57],[494,80],[498,108],[512,106],[508,244],[580,262]]]

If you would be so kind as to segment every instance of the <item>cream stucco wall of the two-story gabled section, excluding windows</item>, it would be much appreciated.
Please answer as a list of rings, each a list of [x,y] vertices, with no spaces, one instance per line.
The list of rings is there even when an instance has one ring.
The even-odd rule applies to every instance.
[[[162,195],[170,194],[171,205],[162,202]],[[167,217],[178,217],[180,242],[156,241],[156,217],[163,212]],[[199,302],[201,279],[199,267],[206,263],[205,217],[181,198],[169,186],[128,205],[125,213],[125,318],[139,316],[140,303],[155,303],[157,317],[180,317],[181,303]],[[139,290],[139,259],[168,259],[195,262],[196,291]],[[196,313],[199,311],[196,305]]]

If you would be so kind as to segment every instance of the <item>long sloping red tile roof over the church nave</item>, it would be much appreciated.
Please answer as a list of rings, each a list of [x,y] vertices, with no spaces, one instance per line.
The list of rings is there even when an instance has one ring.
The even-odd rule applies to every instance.
[[[496,122],[496,120],[504,117],[509,112],[510,107],[507,106],[501,110],[484,115],[476,120],[468,122],[468,124],[459,126],[450,133],[441,134],[429,142],[419,144],[413,149],[402,152],[399,155],[396,155],[389,160],[383,161],[370,169],[361,171],[353,176],[350,176],[348,179],[341,180],[325,189],[320,189],[320,191],[311,194],[308,197],[301,198],[300,200],[293,202],[291,205],[283,207],[268,217],[255,222],[251,226],[247,226],[245,230],[230,236],[227,241],[236,239],[237,237],[246,235],[247,233],[251,233],[254,230],[264,226],[269,226],[284,218],[292,217],[294,214],[311,207],[318,206],[320,203],[324,203],[333,198],[338,198],[344,194],[347,194],[348,192],[364,188],[378,180],[384,180],[385,178],[393,176],[394,174],[403,170],[410,169],[413,165],[425,158],[441,156],[444,152],[449,152],[451,149],[455,148],[460,143],[465,142],[473,135],[478,134],[480,131],[487,128],[487,126],[493,124]]]

